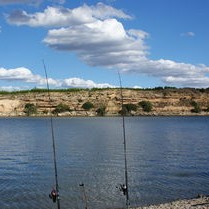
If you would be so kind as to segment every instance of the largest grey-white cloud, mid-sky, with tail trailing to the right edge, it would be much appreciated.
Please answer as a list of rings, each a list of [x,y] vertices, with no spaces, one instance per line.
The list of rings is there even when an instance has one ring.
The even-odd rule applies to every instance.
[[[92,66],[158,77],[167,85],[208,86],[207,66],[165,59],[150,60],[148,47],[144,41],[146,37],[148,34],[144,31],[125,31],[123,25],[116,19],[107,19],[71,28],[50,30],[44,42],[56,50],[74,51],[81,60]],[[170,76],[176,80],[173,79],[171,82],[168,79]],[[181,77],[185,80],[178,82]]]

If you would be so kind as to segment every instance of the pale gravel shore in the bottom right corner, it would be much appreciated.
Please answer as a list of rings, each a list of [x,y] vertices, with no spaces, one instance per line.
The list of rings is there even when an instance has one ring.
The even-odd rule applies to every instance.
[[[136,209],[209,209],[209,197],[199,197],[190,200],[178,200],[160,205],[138,207]]]

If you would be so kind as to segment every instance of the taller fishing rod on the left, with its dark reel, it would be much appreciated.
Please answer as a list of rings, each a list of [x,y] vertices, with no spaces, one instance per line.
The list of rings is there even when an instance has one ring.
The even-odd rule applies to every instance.
[[[48,81],[48,75],[46,70],[46,65],[43,60],[43,66],[44,66],[44,72],[45,72],[45,78],[46,78],[46,85],[47,85],[47,92],[48,92],[48,98],[50,103],[50,112],[51,112],[51,96],[50,96],[50,90],[49,90],[49,81]],[[54,173],[55,173],[55,183],[56,183],[56,190],[55,193],[52,195],[52,199],[54,202],[57,202],[57,209],[60,209],[60,196],[59,196],[59,184],[58,184],[58,173],[57,173],[57,157],[56,157],[56,146],[55,146],[55,136],[54,136],[54,124],[52,115],[50,114],[50,126],[51,126],[51,136],[52,136],[52,147],[53,147],[53,160],[54,160]],[[53,196],[54,195],[54,196]]]

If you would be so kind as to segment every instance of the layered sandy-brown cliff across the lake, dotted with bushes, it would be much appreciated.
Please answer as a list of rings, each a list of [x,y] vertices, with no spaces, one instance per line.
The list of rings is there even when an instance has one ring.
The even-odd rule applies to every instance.
[[[47,116],[59,104],[69,107],[70,111],[57,112],[58,116],[105,116],[119,115],[121,110],[120,89],[28,91],[0,94],[0,116]],[[152,109],[145,111],[139,102],[150,102]],[[92,108],[87,110],[83,104],[89,102]],[[126,115],[209,115],[208,89],[123,89],[124,105],[132,104],[133,109]],[[36,113],[26,113],[25,105],[33,104]]]

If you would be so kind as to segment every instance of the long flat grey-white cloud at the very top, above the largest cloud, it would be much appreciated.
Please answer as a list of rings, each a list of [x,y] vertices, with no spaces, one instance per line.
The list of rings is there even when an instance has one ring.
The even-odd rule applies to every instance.
[[[28,25],[31,27],[66,27],[92,23],[97,19],[110,17],[130,18],[121,10],[98,3],[96,6],[84,4],[72,10],[63,7],[47,7],[44,12],[34,14],[16,10],[7,15],[7,21],[10,24]]]

